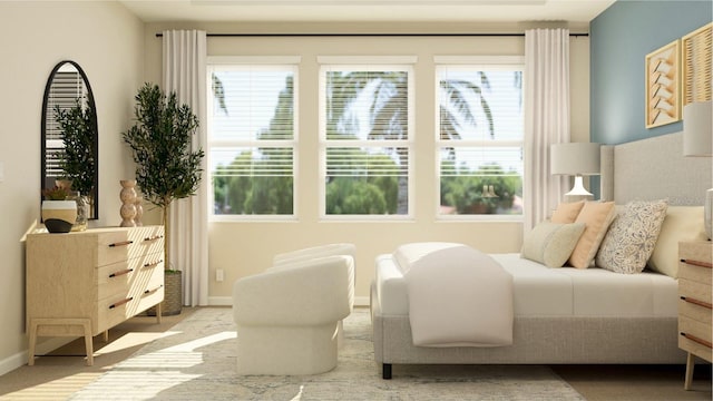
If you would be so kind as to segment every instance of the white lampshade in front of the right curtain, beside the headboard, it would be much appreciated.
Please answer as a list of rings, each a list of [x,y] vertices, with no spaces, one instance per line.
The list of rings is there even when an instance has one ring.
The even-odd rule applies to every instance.
[[[550,174],[599,174],[599,144],[569,143],[550,146]]]

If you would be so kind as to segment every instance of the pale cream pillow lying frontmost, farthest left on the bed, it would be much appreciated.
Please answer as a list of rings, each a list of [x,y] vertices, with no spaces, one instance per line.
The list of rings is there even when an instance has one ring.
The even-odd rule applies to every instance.
[[[543,222],[525,236],[520,257],[541,263],[547,267],[561,267],[583,232],[584,223]]]

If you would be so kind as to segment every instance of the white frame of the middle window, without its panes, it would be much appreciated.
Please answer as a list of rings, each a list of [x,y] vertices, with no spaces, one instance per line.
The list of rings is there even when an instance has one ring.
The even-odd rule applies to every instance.
[[[319,65],[319,219],[321,222],[398,222],[416,219],[416,56],[320,56]],[[407,137],[406,140],[336,140],[326,139],[326,71],[406,71],[407,77]],[[385,148],[408,150],[408,212],[406,214],[326,214],[326,149],[330,147]]]

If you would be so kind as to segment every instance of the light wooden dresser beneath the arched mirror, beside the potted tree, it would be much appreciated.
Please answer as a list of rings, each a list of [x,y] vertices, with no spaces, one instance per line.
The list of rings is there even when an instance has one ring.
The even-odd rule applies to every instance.
[[[94,335],[164,300],[163,226],[29,234],[26,253],[29,365],[38,336],[84,336],[91,365]]]

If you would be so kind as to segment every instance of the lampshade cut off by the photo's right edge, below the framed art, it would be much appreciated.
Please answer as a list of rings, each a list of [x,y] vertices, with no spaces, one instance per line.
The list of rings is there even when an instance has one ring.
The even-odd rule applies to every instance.
[[[683,155],[713,156],[713,102],[683,106]]]

